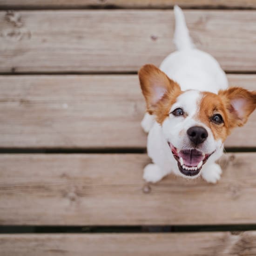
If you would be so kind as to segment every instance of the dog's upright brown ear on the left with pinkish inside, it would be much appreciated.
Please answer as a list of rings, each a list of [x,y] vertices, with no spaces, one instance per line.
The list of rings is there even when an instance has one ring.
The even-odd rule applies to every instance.
[[[181,91],[175,81],[169,79],[166,74],[152,64],[141,67],[138,74],[149,114],[154,113],[157,103],[163,100],[165,94],[174,90]]]

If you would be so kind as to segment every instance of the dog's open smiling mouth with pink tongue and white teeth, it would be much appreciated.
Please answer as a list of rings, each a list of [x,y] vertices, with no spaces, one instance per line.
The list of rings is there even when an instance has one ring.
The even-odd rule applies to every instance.
[[[178,163],[180,172],[186,176],[195,176],[199,174],[202,166],[207,162],[209,157],[215,152],[210,154],[203,154],[196,148],[178,150],[170,142],[169,147],[172,150],[172,154]]]

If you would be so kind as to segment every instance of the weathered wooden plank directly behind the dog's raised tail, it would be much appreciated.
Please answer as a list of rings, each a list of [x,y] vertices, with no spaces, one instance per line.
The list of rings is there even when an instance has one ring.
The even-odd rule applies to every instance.
[[[184,13],[225,70],[256,71],[256,12]],[[0,72],[135,72],[174,50],[173,28],[171,10],[0,12]]]

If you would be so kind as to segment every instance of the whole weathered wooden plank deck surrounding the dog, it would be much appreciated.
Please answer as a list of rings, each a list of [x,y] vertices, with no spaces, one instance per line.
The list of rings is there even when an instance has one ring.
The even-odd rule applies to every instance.
[[[255,90],[256,2],[175,3],[229,84]],[[174,50],[173,4],[0,0],[1,256],[256,255],[256,113],[216,185],[142,180],[136,72]]]

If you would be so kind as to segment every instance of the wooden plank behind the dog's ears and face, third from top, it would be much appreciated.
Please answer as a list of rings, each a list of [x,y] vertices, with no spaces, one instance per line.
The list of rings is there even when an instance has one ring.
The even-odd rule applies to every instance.
[[[256,89],[256,75],[229,75]],[[0,148],[145,148],[136,75],[0,76]],[[256,113],[226,147],[255,147]]]

